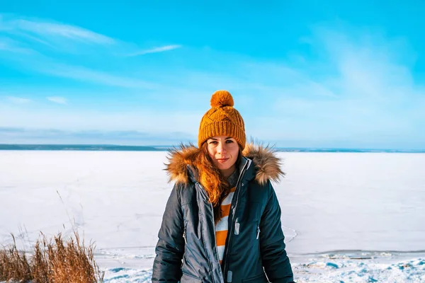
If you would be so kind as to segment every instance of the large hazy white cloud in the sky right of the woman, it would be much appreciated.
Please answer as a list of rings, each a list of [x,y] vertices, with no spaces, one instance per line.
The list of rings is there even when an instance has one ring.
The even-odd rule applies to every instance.
[[[404,144],[420,136],[418,140],[424,140],[417,133],[425,125],[425,112],[420,110],[425,105],[424,84],[414,82],[409,68],[412,50],[405,40],[319,28],[309,42],[325,54],[320,58],[323,73],[311,86],[287,87],[286,95],[273,104],[267,117],[273,121],[281,113],[275,125],[288,133],[281,138],[349,137],[376,144],[392,141],[388,137]],[[314,63],[307,63],[304,76],[314,68]],[[314,96],[319,91],[315,86],[334,96]]]

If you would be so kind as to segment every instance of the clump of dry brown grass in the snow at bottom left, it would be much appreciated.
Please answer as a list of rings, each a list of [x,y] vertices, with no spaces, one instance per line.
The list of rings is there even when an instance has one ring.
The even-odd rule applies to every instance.
[[[60,233],[50,240],[41,234],[29,260],[14,237],[10,248],[0,250],[0,281],[100,283],[103,272],[94,260],[93,244],[84,246],[77,232],[67,240]]]

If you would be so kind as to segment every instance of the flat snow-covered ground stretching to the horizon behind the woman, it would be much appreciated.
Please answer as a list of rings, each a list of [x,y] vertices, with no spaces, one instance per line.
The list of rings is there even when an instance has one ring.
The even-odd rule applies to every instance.
[[[297,282],[425,282],[425,154],[279,153]],[[106,282],[150,282],[166,152],[0,151],[0,243],[96,242]]]

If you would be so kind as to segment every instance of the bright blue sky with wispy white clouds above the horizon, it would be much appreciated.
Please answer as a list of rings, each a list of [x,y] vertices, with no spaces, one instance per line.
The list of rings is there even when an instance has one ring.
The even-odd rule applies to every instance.
[[[425,149],[423,1],[229,2],[1,4],[0,143],[196,141],[227,89],[249,138]]]

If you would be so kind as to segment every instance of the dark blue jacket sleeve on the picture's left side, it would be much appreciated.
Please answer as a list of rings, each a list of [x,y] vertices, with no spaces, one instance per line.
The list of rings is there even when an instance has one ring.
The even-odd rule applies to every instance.
[[[179,282],[184,253],[183,213],[179,200],[180,186],[174,185],[166,203],[158,233],[157,254],[152,270],[152,282]]]

